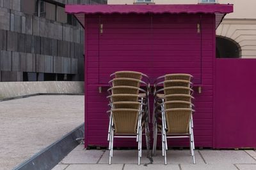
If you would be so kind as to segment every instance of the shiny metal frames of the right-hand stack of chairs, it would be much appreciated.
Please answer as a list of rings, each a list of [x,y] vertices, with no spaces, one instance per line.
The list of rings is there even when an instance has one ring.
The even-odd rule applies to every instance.
[[[154,128],[154,134],[153,134],[153,138],[154,138],[154,143],[153,143],[153,149],[152,149],[152,154],[156,155],[156,145],[157,145],[157,136],[161,135],[162,136],[162,155],[164,156],[164,164],[167,164],[166,161],[166,150],[168,150],[168,145],[167,145],[167,139],[168,138],[189,138],[189,143],[190,143],[190,153],[193,157],[193,164],[195,164],[195,143],[194,143],[194,136],[193,136],[193,117],[192,117],[192,112],[191,112],[191,117],[189,120],[189,133],[188,134],[168,134],[167,133],[167,126],[166,126],[166,109],[165,109],[165,103],[164,102],[168,102],[165,101],[166,97],[170,97],[173,94],[168,94],[165,95],[164,94],[164,89],[175,89],[176,87],[180,89],[180,86],[170,86],[170,87],[164,87],[164,82],[166,81],[170,81],[172,82],[172,79],[166,79],[166,76],[182,76],[186,74],[166,74],[164,76],[159,76],[155,81],[154,81],[154,108],[153,108],[153,128]],[[190,81],[189,83],[189,97],[191,97],[191,100],[194,99],[193,95],[193,83],[191,83],[191,80],[193,79],[193,76],[190,76]],[[164,79],[164,80],[163,80]],[[182,79],[173,79],[177,82],[183,82]],[[173,81],[173,82],[175,82]],[[188,81],[188,80],[186,80]],[[160,88],[159,87],[163,87]],[[158,88],[158,89],[157,89]],[[183,87],[182,87],[183,88]],[[159,97],[157,94],[163,92],[163,96]],[[162,94],[162,93],[161,93]],[[179,95],[179,94],[175,94],[175,95]],[[182,94],[180,94],[182,95]],[[186,94],[187,95],[187,94]],[[178,101],[177,101],[178,102]],[[194,105],[191,103],[190,108],[193,109]],[[160,108],[159,111],[157,111]],[[161,134],[158,134],[158,123],[157,123],[157,118],[161,117]]]

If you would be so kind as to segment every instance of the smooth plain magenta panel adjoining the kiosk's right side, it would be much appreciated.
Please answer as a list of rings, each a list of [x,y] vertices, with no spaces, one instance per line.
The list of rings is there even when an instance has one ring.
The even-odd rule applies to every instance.
[[[256,148],[256,59],[216,59],[216,146]]]

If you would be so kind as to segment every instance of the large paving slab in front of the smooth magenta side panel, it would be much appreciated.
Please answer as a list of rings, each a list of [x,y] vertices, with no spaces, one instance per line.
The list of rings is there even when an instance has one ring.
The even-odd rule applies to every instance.
[[[207,164],[256,164],[244,150],[200,150]]]

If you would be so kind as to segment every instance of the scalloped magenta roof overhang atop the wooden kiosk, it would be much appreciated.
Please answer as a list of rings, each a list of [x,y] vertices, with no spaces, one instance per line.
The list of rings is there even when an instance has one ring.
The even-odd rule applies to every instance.
[[[233,4],[100,4],[100,5],[66,5],[65,11],[76,15],[84,27],[85,15],[93,14],[163,14],[163,13],[214,13],[216,28],[227,13],[233,12]]]

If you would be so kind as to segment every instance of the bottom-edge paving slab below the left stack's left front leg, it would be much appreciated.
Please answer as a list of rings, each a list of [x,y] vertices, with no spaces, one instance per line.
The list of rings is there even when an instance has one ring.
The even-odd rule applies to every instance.
[[[84,170],[84,169],[97,169],[97,170],[122,170],[124,164],[113,164],[113,165],[100,165],[100,164],[72,164],[65,170]]]

